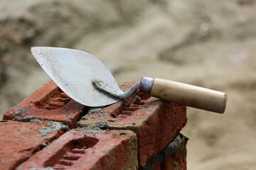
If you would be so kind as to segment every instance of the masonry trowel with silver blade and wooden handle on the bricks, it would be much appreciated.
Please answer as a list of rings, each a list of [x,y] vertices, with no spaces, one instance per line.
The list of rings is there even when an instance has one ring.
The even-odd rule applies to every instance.
[[[60,47],[31,47],[31,52],[55,84],[85,106],[107,106],[129,98],[139,89],[164,101],[215,113],[225,111],[227,95],[220,91],[142,77],[124,92],[107,67],[87,52]]]

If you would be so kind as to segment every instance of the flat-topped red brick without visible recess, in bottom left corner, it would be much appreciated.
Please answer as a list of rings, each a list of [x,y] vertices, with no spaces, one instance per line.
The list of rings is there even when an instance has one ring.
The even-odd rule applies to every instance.
[[[14,169],[64,132],[48,129],[48,124],[43,122],[21,123],[11,120],[1,121],[0,129],[0,169]],[[48,133],[42,134],[41,130],[48,130]]]

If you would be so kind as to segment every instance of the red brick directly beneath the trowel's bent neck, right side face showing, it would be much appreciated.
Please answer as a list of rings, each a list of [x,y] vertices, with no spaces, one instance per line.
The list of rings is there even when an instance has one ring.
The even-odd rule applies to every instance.
[[[134,83],[124,84],[127,90]],[[139,101],[139,98],[142,101]],[[137,134],[139,167],[156,156],[186,125],[186,106],[169,103],[137,91],[124,102],[91,110],[80,125],[105,122],[110,130],[132,130]]]

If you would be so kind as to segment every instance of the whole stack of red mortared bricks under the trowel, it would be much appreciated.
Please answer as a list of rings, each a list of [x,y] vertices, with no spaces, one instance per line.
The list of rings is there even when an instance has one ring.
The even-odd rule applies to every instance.
[[[186,120],[185,106],[139,91],[82,106],[50,81],[4,114],[0,169],[186,169]]]

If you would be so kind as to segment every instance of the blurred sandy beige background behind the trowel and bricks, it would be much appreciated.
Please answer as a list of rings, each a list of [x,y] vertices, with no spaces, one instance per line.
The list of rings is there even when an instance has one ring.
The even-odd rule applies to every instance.
[[[50,78],[31,46],[90,52],[119,84],[158,77],[228,94],[225,114],[188,108],[188,169],[255,169],[253,0],[0,0],[0,118]]]

